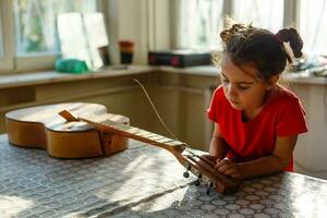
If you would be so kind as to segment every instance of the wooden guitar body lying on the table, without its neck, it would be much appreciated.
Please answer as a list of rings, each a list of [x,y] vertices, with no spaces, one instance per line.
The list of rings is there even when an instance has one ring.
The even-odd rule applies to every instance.
[[[101,114],[129,125],[129,118],[107,113],[98,104],[68,102],[37,106],[5,113],[9,142],[25,148],[40,148],[56,158],[90,158],[110,156],[128,148],[128,138],[102,133],[86,122],[68,122],[58,113],[70,110],[77,116]]]

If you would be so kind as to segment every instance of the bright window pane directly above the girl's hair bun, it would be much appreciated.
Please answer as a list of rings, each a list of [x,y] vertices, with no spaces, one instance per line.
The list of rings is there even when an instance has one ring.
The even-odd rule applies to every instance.
[[[232,14],[238,22],[276,33],[283,25],[283,0],[234,0]]]

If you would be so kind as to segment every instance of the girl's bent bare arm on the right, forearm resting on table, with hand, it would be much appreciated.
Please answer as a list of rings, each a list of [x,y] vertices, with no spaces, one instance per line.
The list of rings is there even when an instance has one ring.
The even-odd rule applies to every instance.
[[[270,156],[240,164],[222,160],[217,164],[216,169],[223,174],[238,179],[280,172],[289,165],[296,140],[298,135],[277,137],[275,150]]]

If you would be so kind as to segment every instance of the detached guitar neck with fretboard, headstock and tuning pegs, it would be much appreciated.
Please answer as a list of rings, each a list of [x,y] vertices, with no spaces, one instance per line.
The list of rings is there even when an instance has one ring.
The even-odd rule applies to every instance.
[[[199,184],[201,181],[208,183],[208,192],[213,189],[222,194],[233,193],[238,191],[240,181],[226,177],[217,170],[214,166],[216,162],[215,157],[194,150],[187,147],[183,142],[171,140],[169,137],[158,135],[138,128],[130,126],[124,123],[119,123],[110,120],[106,114],[89,114],[89,116],[73,116],[69,110],[60,112],[64,119],[70,122],[83,121],[99,132],[111,133],[125,137],[130,137],[136,141],[148,143],[170,152],[181,165],[186,168],[184,177],[187,178],[189,171],[197,177],[195,184]]]

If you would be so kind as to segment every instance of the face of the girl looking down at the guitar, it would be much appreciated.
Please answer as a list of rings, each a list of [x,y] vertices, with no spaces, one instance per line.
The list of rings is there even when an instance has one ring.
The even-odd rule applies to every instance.
[[[255,111],[261,108],[266,92],[276,82],[265,83],[257,77],[257,70],[252,64],[243,64],[239,68],[228,55],[222,56],[221,83],[223,93],[234,109]]]

